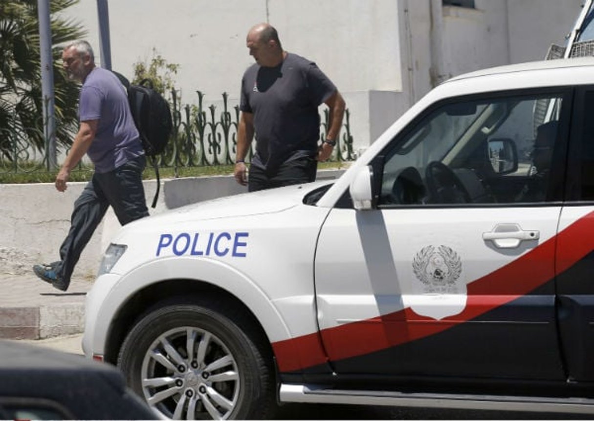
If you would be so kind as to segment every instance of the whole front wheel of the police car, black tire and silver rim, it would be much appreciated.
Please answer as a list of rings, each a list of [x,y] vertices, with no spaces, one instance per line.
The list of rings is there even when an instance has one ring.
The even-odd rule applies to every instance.
[[[272,371],[248,318],[200,301],[162,305],[134,325],[118,357],[128,385],[172,419],[270,416]]]

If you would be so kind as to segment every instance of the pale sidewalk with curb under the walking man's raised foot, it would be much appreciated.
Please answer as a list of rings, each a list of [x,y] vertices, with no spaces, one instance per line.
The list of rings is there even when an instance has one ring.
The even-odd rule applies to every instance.
[[[44,339],[81,333],[92,280],[73,278],[62,292],[30,274],[0,273],[0,338]]]

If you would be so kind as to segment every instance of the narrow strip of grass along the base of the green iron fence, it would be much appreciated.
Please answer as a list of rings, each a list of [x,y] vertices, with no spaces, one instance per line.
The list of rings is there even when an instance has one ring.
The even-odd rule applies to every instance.
[[[346,169],[349,165],[350,162],[321,162],[318,164],[318,169]],[[45,171],[24,169],[23,172],[17,173],[0,172],[0,184],[53,183],[57,174],[57,170]],[[180,167],[178,169],[173,167],[159,168],[159,175],[162,179],[231,174],[233,174],[233,165]],[[69,181],[89,181],[91,176],[93,176],[93,166],[81,165],[72,171]],[[156,178],[154,169],[150,164],[147,164],[147,167],[143,172],[143,179],[150,180],[154,178]]]

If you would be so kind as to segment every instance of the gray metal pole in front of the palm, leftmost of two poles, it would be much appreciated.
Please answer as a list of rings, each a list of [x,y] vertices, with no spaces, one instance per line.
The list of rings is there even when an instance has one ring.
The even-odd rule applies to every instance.
[[[41,53],[43,134],[48,147],[49,167],[55,169],[58,167],[58,160],[56,159],[56,118],[53,96],[52,29],[49,19],[49,0],[37,0],[37,14],[39,16],[39,47]]]

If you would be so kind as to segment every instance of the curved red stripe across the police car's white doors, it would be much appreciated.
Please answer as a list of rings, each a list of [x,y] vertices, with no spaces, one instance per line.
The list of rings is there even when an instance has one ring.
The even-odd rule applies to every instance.
[[[557,244],[555,268],[551,266],[555,265]],[[522,257],[467,284],[467,304],[460,314],[435,320],[405,308],[324,329],[320,334],[277,341],[273,343],[273,350],[279,370],[304,369],[328,359],[360,356],[443,332],[526,295],[551,280],[552,273],[567,270],[593,249],[594,213],[590,213]]]

